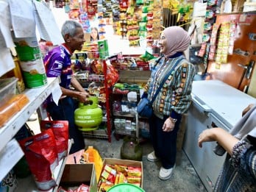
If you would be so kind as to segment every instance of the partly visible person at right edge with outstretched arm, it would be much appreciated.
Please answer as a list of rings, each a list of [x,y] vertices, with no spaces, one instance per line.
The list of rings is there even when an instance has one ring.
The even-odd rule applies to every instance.
[[[243,110],[230,132],[221,127],[204,130],[198,145],[213,141],[217,142],[216,154],[227,152],[213,191],[256,191],[256,104]]]

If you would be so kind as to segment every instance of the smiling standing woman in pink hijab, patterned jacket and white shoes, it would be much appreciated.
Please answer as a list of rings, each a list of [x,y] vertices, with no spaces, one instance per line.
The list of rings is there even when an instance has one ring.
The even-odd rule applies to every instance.
[[[182,27],[169,26],[163,30],[159,42],[160,53],[163,56],[154,63],[151,77],[142,96],[151,100],[166,74],[178,61],[153,102],[154,114],[149,119],[149,132],[154,152],[148,154],[147,160],[161,161],[162,167],[158,177],[163,180],[169,179],[174,169],[180,120],[182,113],[185,113],[191,104],[195,68],[184,57],[184,51],[188,49],[189,44],[188,32]]]

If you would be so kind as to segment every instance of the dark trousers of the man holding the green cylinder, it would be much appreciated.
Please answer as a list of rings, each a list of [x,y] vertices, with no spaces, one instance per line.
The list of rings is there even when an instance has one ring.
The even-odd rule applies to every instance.
[[[71,146],[70,154],[85,149],[85,140],[82,132],[74,124],[74,110],[77,109],[78,103],[70,97],[60,99],[59,104],[50,102],[47,104],[46,110],[51,115],[51,118],[56,121],[68,121],[69,138],[73,138],[74,143]]]

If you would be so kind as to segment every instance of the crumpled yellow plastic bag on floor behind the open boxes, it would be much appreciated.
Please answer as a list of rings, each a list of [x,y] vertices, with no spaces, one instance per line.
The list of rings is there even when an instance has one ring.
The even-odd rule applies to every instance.
[[[87,163],[94,163],[97,182],[99,182],[103,167],[102,157],[99,155],[99,152],[93,146],[88,146],[88,149],[82,154],[82,158]]]

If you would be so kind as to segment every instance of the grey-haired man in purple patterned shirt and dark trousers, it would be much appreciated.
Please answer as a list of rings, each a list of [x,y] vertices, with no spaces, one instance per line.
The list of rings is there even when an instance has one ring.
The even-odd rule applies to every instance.
[[[78,102],[87,102],[89,94],[73,77],[71,69],[71,55],[75,50],[82,50],[85,38],[82,26],[77,21],[65,21],[61,33],[65,43],[51,49],[44,57],[43,63],[46,67],[47,77],[60,77],[60,88],[63,95],[58,105],[49,99],[46,110],[53,120],[68,121],[69,138],[74,140],[70,151],[72,154],[80,149],[85,149],[82,132],[74,124],[74,110],[77,109]],[[71,86],[74,89],[71,89]]]

